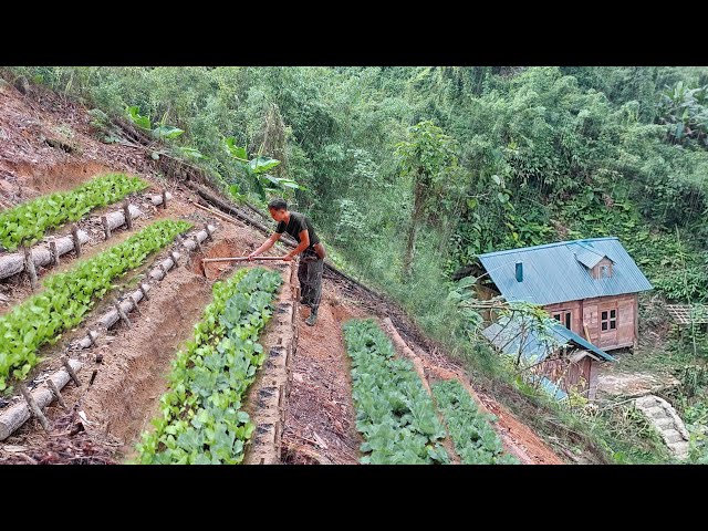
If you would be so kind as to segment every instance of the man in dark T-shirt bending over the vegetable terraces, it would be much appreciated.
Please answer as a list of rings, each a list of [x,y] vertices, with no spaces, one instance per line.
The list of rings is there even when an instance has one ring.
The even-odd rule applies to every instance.
[[[268,211],[271,218],[278,221],[275,232],[248,256],[249,260],[267,251],[280,239],[283,232],[288,232],[298,241],[295,247],[283,260],[290,261],[302,252],[300,264],[298,266],[298,280],[302,298],[300,302],[312,309],[305,323],[314,326],[317,320],[320,299],[322,298],[322,270],[324,267],[324,246],[320,243],[320,238],[314,233],[312,223],[304,214],[288,210],[288,202],[284,199],[275,198],[268,204]]]

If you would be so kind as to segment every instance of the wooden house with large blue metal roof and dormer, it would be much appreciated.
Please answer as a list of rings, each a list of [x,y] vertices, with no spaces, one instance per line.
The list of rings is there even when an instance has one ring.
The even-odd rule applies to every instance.
[[[479,256],[478,292],[539,304],[568,330],[610,351],[635,347],[637,293],[652,289],[620,240],[593,238]]]

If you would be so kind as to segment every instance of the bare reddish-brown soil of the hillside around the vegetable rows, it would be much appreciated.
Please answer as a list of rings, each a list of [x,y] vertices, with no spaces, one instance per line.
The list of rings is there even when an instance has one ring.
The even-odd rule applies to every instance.
[[[171,199],[166,208],[142,201],[145,216],[138,218],[132,229],[117,229],[105,241],[100,241],[102,232],[96,219],[115,210],[116,206],[91,212],[79,222],[87,229],[93,227],[82,258],[96,256],[157,219],[184,219],[194,223],[197,230],[206,225],[216,230],[199,249],[183,253],[185,258],[178,260],[178,267],[155,284],[149,299],[129,314],[129,327],[118,322],[96,341],[96,345],[80,351],[73,348],[72,345],[88,330],[85,323],[94,322],[111,309],[110,302],[104,301],[58,344],[42,350],[44,361],[27,382],[30,389],[61,368],[60,356],[64,353],[84,364],[82,385],[70,384],[62,391],[67,410],[56,402],[45,409],[52,424],[49,431],[42,430],[32,418],[0,442],[0,462],[108,464],[133,458],[140,433],[149,429],[150,419],[158,415],[170,363],[180,346],[192,337],[194,325],[211,300],[212,283],[235,270],[233,266],[208,264],[205,271],[201,258],[244,256],[274,228],[272,220],[259,218],[252,209],[241,209],[209,189],[208,181],[195,168],[180,167],[179,163],[164,157],[152,159],[149,149],[140,147],[142,139],[136,132],[126,131],[126,135],[133,135],[131,144],[135,145],[98,142],[92,136],[91,119],[84,107],[49,91],[25,87],[21,92],[7,83],[0,84],[0,209],[71,189],[97,174],[119,171],[140,176],[149,183],[146,194],[160,195],[167,190]],[[205,190],[208,194],[204,194]],[[208,200],[209,196],[218,201]],[[56,235],[65,233],[66,230],[56,231]],[[275,249],[273,256],[278,256]],[[137,275],[146,274],[167,257],[167,250],[150,257],[132,275],[119,281],[113,293],[119,299],[119,293],[125,293]],[[59,268],[64,271],[75,260],[70,253],[62,258]],[[293,266],[279,263],[274,267],[283,271],[285,278],[293,278]],[[53,272],[52,268],[48,267],[45,271],[40,268],[40,282]],[[287,344],[290,353],[283,373],[285,381],[280,387],[279,419],[271,441],[277,454],[274,462],[358,462],[362,438],[356,431],[351,365],[342,324],[352,317],[369,316],[383,326],[386,317],[391,319],[399,334],[398,354],[413,353],[425,379],[455,377],[471,385],[469,391],[479,405],[498,416],[494,428],[508,452],[524,464],[562,462],[493,397],[475,393],[475,383],[469,382],[464,369],[424,337],[389,301],[334,268],[327,268],[319,321],[316,326],[309,327],[304,326],[309,310],[299,308],[296,280],[291,283],[293,285],[284,290],[280,299],[281,305],[289,304],[293,309],[291,330],[287,330],[289,323],[277,316],[267,325],[263,336],[264,352],[272,355],[278,345]],[[0,281],[0,314],[11,311],[30,293],[24,274]],[[269,362],[271,360],[267,361],[266,368],[274,364]],[[270,385],[267,374],[271,373],[261,371],[249,394],[247,407],[252,416],[258,416],[259,408],[267,407],[263,405]],[[18,396],[6,396],[0,400],[0,415],[19,400]],[[257,441],[258,434],[257,429]]]

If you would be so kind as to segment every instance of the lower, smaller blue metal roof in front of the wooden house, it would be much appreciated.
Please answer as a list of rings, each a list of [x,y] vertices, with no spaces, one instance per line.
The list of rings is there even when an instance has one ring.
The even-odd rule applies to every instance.
[[[482,331],[496,347],[504,354],[517,356],[519,352],[524,360],[524,365],[532,365],[545,360],[550,354],[563,345],[574,343],[586,351],[596,354],[606,362],[615,362],[606,352],[584,340],[576,333],[568,330],[561,323],[553,323],[545,333],[537,332],[533,327],[524,326],[523,317],[502,317]]]

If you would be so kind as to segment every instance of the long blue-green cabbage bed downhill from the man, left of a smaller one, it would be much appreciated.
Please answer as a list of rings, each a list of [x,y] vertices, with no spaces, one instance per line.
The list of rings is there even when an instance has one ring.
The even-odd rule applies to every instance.
[[[364,435],[361,462],[373,465],[449,462],[437,442],[445,437],[430,396],[413,364],[395,360],[386,334],[373,320],[344,325],[352,358],[356,429]]]

